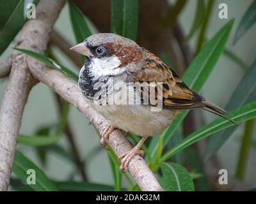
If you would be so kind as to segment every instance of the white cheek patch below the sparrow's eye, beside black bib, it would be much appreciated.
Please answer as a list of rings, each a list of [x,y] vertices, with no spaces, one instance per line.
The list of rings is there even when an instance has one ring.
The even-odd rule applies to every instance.
[[[121,62],[115,55],[110,57],[94,58],[90,64],[91,77],[97,80],[108,75],[119,75],[124,69],[118,68]]]

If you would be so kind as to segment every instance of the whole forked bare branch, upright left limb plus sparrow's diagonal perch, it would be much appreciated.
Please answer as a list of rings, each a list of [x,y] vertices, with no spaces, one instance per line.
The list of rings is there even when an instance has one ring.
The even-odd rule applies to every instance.
[[[63,0],[41,0],[36,8],[36,19],[29,20],[24,25],[16,46],[44,53],[51,35],[52,25],[64,4]],[[109,125],[108,120],[88,105],[86,98],[74,82],[59,71],[49,69],[41,62],[14,51],[12,69],[0,110],[0,191],[8,189],[22,112],[29,90],[37,80],[48,85],[52,91],[76,106],[99,131]],[[109,145],[117,156],[132,149],[131,143],[119,130],[111,133]],[[140,156],[131,160],[128,170],[142,191],[163,191],[156,177]]]

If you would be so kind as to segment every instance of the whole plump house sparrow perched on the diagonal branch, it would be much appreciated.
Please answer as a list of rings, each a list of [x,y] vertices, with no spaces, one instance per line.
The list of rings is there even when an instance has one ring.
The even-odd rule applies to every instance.
[[[129,161],[136,154],[143,156],[140,148],[147,137],[162,133],[181,110],[203,108],[234,122],[225,117],[224,114],[227,113],[225,110],[205,101],[198,93],[191,91],[175,71],[168,68],[159,57],[132,40],[118,34],[99,33],[93,34],[70,49],[86,57],[86,62],[79,73],[78,84],[81,91],[89,99],[93,108],[113,124],[100,133],[102,145],[106,145],[109,134],[115,128],[142,136],[140,142],[132,150],[118,157],[121,161],[121,171],[127,169]],[[151,101],[144,103],[145,101],[141,99],[142,90],[134,91],[134,87],[127,90],[132,94],[135,93],[135,96],[140,96],[135,104],[109,104],[107,100],[108,102],[102,105],[104,99],[113,96],[118,91],[115,86],[119,82],[161,84],[161,94],[156,87],[153,89],[155,92],[146,91],[146,93],[149,97],[153,95],[157,102],[161,101],[163,109],[152,111],[156,103],[153,104]],[[114,89],[109,91],[110,87]],[[96,95],[99,97],[95,98]],[[158,99],[159,96],[161,100]]]

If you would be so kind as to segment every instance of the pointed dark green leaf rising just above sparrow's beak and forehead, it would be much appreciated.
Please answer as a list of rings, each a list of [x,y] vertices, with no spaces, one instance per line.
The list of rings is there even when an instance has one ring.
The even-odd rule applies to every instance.
[[[85,38],[92,35],[86,20],[84,20],[83,14],[78,8],[68,1],[70,18],[72,22],[72,28],[76,36],[76,42],[81,43]]]

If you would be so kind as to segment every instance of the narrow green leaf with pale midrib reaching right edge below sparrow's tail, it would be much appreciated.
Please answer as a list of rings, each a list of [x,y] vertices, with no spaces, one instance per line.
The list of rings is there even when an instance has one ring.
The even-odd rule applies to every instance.
[[[248,105],[244,105],[237,110],[234,110],[233,112],[228,114],[228,117],[235,120],[237,123],[254,119],[256,117],[256,101]],[[168,152],[166,152],[166,154],[161,157],[160,162],[166,161],[166,159],[169,159],[174,154],[176,154],[180,150],[185,149],[189,145],[192,145],[193,143],[198,142],[199,140],[202,140],[209,135],[217,133],[218,131],[221,131],[222,129],[231,126],[234,126],[234,124],[223,118],[214,120],[213,122],[207,124],[206,126],[198,129],[197,131],[186,137],[172,149],[168,150]]]

